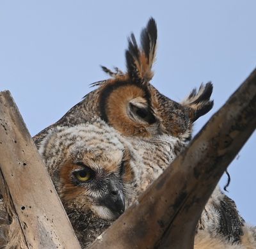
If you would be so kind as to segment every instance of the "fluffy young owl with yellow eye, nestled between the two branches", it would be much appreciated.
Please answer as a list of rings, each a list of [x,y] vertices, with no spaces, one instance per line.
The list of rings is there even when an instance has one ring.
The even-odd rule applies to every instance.
[[[40,142],[52,183],[82,248],[122,215],[138,196],[142,167],[128,143],[101,119],[76,126],[56,126]],[[0,248],[20,248],[12,221],[0,199]]]

